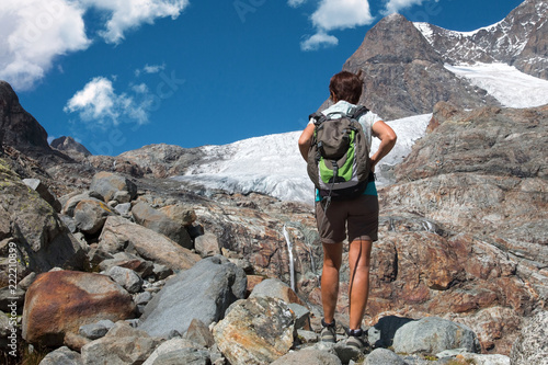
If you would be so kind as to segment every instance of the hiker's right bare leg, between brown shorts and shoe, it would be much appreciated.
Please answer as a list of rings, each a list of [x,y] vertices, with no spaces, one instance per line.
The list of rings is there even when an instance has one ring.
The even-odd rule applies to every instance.
[[[369,295],[369,262],[372,241],[352,241],[349,251],[350,265],[350,328],[362,328],[365,307]]]

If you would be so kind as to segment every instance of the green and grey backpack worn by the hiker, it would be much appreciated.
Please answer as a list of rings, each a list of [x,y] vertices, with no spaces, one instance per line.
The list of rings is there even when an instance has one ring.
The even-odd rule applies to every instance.
[[[355,106],[349,114],[310,114],[316,129],[308,151],[307,171],[322,198],[355,198],[367,187],[369,148],[357,122],[367,112],[365,106]]]

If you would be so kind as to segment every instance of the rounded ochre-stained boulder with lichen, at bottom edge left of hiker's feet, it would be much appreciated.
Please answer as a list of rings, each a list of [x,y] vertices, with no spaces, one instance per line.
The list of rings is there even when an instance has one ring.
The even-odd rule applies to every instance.
[[[292,349],[294,321],[283,300],[255,297],[235,303],[213,333],[230,364],[271,364]]]

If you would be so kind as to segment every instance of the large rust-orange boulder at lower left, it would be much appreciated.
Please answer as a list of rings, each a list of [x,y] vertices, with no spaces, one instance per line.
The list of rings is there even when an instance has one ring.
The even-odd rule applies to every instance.
[[[132,296],[109,276],[73,271],[38,275],[25,296],[23,339],[49,346],[62,345],[67,333],[83,324],[133,318]]]

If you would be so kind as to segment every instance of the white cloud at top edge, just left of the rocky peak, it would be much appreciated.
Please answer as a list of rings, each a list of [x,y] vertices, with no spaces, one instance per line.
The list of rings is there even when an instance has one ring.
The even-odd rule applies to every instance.
[[[301,42],[302,50],[336,45],[339,41],[328,32],[370,24],[374,18],[366,0],[321,0],[310,20],[316,34]]]

